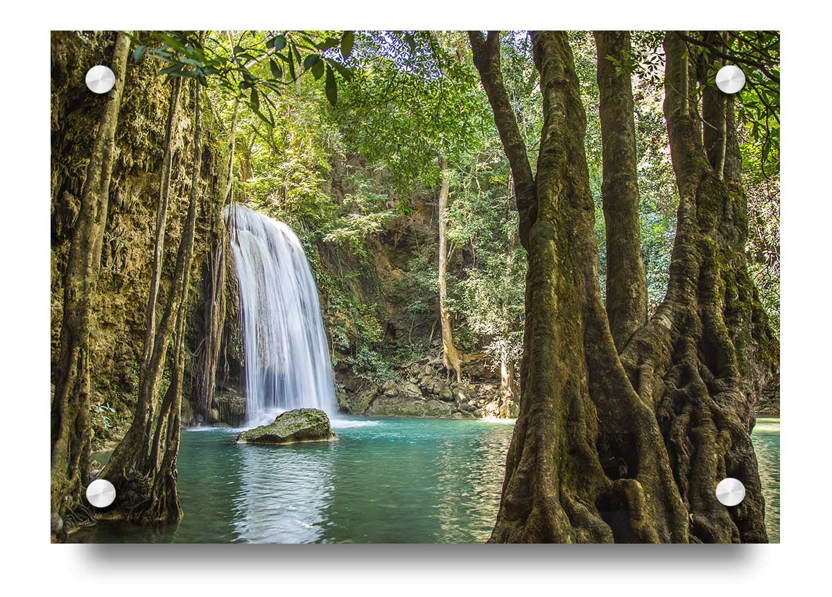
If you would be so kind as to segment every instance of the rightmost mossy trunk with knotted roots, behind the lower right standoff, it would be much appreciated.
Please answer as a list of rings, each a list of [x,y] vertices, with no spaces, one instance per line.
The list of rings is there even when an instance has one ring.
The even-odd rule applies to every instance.
[[[745,263],[748,212],[733,106],[709,92],[698,114],[691,101],[697,65],[675,33],[666,36],[665,52],[664,109],[680,196],[676,243],[666,299],[622,360],[655,404],[691,538],[765,542],[750,430],[755,402],[777,374],[780,347]],[[727,109],[715,111],[711,100]],[[709,160],[699,126],[715,113],[725,120],[717,127],[726,131],[724,172],[720,160]],[[733,508],[714,498],[726,476],[745,485],[745,500]]]

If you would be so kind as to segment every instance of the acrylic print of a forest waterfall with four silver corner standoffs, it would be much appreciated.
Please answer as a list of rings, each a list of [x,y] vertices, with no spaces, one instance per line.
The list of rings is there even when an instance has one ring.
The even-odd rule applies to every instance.
[[[779,542],[779,32],[51,43],[53,541]]]

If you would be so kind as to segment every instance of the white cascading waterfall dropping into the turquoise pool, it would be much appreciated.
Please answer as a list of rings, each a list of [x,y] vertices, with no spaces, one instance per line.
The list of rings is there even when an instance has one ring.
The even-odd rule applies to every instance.
[[[227,210],[226,209],[226,215]],[[249,425],[292,408],[335,413],[332,364],[318,289],[289,226],[244,205],[230,218],[240,281]]]

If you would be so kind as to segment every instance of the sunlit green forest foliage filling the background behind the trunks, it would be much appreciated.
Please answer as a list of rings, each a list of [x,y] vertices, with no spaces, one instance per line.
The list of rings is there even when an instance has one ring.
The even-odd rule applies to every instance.
[[[151,48],[172,52],[168,58],[184,66],[170,76],[198,72],[201,67],[180,60],[190,57],[188,52],[196,52],[201,65],[225,59],[215,66],[218,72],[203,74],[218,126],[230,121],[235,101],[240,102],[235,197],[284,220],[299,235],[319,286],[337,368],[379,381],[392,376],[397,363],[430,350],[424,328],[408,344],[390,341],[387,326],[390,303],[400,309],[399,317],[435,320],[435,237],[420,240],[406,263],[389,264],[402,273],[392,287],[381,292],[369,286],[379,284],[373,252],[380,239],[398,234],[403,218],[417,216],[410,193],[435,197],[440,155],[448,163],[450,185],[447,307],[454,338],[464,352],[488,353],[495,363],[517,361],[526,255],[514,238],[518,215],[508,162],[462,32],[235,32],[233,44],[225,33],[210,32],[203,46],[196,45],[196,33],[181,35],[184,45],[160,37],[139,58],[141,53],[166,57]],[[730,35],[738,56],[755,52],[751,46],[759,40]],[[641,249],[651,311],[666,292],[678,206],[661,109],[663,36],[633,32],[629,55],[605,57],[633,80]],[[570,42],[587,115],[603,291],[606,230],[596,48],[589,32],[570,33]],[[774,37],[770,43],[775,44]],[[708,51],[691,44],[691,52]],[[503,33],[501,62],[533,169],[542,101],[526,33]],[[750,96],[744,91],[739,98],[737,114],[749,190],[750,268],[772,314],[779,311],[779,116],[765,112],[773,96],[765,95],[768,83],[754,77]]]

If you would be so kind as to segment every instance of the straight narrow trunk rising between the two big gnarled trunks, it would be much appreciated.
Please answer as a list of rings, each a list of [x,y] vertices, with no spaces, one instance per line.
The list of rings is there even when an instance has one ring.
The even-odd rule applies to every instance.
[[[607,318],[620,353],[647,320],[636,182],[636,124],[630,72],[607,57],[630,56],[630,32],[595,32],[602,140],[602,200],[607,226]]]

